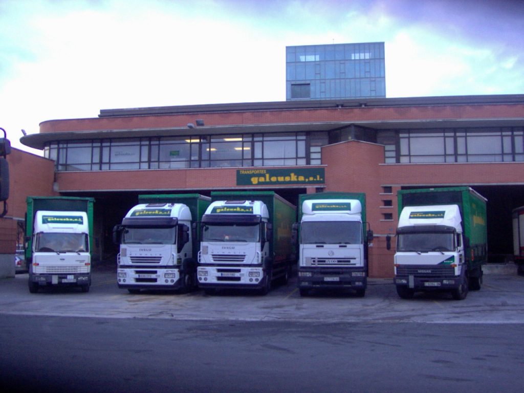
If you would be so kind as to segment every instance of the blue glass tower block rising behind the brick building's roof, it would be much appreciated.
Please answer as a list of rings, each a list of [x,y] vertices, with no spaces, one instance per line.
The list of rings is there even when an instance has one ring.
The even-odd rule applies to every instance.
[[[386,97],[384,42],[286,47],[286,100]]]

